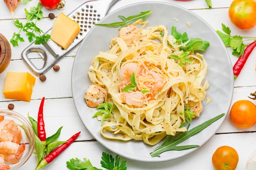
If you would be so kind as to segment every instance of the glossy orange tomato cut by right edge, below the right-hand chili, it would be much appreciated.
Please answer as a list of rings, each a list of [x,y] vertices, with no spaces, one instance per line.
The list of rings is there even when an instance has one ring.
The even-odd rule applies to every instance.
[[[251,128],[256,124],[256,105],[249,100],[238,100],[231,107],[229,117],[238,128]]]

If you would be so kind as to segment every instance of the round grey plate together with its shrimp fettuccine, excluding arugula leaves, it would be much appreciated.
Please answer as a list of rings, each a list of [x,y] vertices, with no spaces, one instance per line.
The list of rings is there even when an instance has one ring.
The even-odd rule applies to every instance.
[[[76,54],[72,95],[83,124],[120,156],[148,162],[177,159],[197,148],[151,157],[167,135],[228,113],[234,77],[229,54],[207,22],[180,6],[139,2],[117,16],[150,15],[122,28],[94,26]],[[227,115],[227,114],[226,114]],[[205,144],[225,116],[183,145]]]

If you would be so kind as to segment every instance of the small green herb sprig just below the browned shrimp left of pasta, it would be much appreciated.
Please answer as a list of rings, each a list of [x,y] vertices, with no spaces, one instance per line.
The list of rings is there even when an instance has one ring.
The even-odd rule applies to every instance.
[[[101,117],[101,124],[102,124],[106,117],[112,117],[113,116],[112,110],[113,110],[114,107],[115,107],[115,105],[112,105],[109,102],[100,104],[96,109],[101,109],[102,108],[102,110],[97,111],[92,117],[102,115],[102,117]]]

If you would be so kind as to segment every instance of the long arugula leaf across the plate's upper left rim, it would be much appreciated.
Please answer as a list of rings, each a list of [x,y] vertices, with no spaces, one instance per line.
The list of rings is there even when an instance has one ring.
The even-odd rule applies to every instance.
[[[96,23],[95,25],[99,25],[99,26],[109,26],[109,27],[119,27],[119,30],[122,28],[122,27],[125,27],[129,24],[131,24],[132,22],[135,22],[137,20],[141,20],[144,21],[148,15],[151,13],[152,11],[144,11],[144,12],[140,12],[140,14],[138,15],[132,15],[132,16],[129,16],[127,18],[125,18],[124,16],[122,15],[118,15],[119,18],[121,18],[123,21],[122,22],[112,22],[112,23],[109,23],[109,24],[100,24],[100,23]]]

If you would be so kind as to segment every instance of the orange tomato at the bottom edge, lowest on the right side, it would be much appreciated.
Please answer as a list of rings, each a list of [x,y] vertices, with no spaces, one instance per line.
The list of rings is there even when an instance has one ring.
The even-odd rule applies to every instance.
[[[238,160],[238,153],[230,146],[220,146],[211,158],[213,167],[216,170],[235,170]]]

